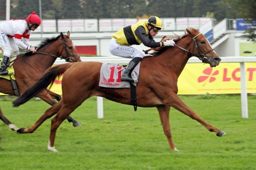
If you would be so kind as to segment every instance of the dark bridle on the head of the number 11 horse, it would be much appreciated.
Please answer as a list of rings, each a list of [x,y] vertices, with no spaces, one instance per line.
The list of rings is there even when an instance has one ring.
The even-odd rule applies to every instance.
[[[202,33],[199,33],[198,35],[200,35],[200,34],[202,34]],[[193,51],[192,51],[192,52],[190,52],[190,51],[188,51],[188,50],[186,50],[186,49],[184,49],[184,48],[182,48],[182,47],[180,47],[180,46],[178,46],[178,45],[176,45],[176,44],[174,44],[174,45],[175,45],[176,47],[178,47],[179,49],[184,50],[186,54],[190,53],[192,56],[197,57],[197,58],[200,59],[203,63],[205,63],[205,59],[207,59],[207,57],[205,57],[205,55],[206,55],[207,53],[213,51],[214,49],[210,49],[209,51],[206,51],[205,53],[203,53],[202,50],[200,49],[200,47],[199,47],[199,46],[197,45],[197,43],[196,43],[196,37],[198,37],[198,35],[196,35],[196,36],[194,36],[194,37],[192,38],[192,40],[194,41],[194,43],[193,43]],[[197,49],[198,54],[194,53],[194,48],[195,48],[195,47],[196,47],[196,49]]]

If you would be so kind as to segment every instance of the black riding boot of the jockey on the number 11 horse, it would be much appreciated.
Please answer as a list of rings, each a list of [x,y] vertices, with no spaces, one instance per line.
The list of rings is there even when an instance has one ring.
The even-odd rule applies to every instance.
[[[132,70],[135,68],[135,66],[142,60],[140,57],[133,58],[128,66],[126,67],[124,74],[121,77],[121,80],[124,82],[133,82],[132,78]]]

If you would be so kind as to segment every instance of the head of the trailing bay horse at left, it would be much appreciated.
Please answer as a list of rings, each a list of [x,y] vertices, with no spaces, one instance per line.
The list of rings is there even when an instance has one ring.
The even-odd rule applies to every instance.
[[[68,62],[80,62],[80,56],[78,55],[72,40],[69,39],[70,32],[68,31],[67,35],[64,35],[62,32],[60,33],[62,41],[62,48],[59,49],[59,54]]]

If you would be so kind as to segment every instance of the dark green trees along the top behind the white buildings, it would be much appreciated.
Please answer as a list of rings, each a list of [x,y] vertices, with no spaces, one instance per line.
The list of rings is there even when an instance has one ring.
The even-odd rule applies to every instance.
[[[0,20],[5,20],[6,0],[0,0]],[[43,19],[79,18],[160,18],[205,17],[218,21],[244,18],[256,21],[255,0],[42,0]],[[35,11],[39,0],[11,0],[10,18],[24,19]],[[254,24],[254,23],[253,23]],[[248,29],[247,38],[255,41],[255,29]]]

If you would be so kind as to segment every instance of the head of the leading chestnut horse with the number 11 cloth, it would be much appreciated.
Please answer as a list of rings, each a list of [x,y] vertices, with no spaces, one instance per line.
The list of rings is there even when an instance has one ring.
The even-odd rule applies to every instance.
[[[220,64],[220,57],[212,49],[210,42],[206,37],[194,28],[187,28],[186,31],[192,37],[193,43],[190,43],[190,51],[192,56],[198,57],[203,63],[210,64],[211,67],[216,67]]]

